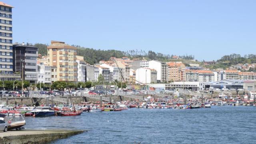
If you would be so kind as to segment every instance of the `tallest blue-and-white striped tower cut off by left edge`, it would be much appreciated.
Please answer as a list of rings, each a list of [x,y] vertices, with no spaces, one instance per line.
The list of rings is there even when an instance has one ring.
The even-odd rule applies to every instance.
[[[12,6],[0,2],[0,73],[12,74]]]

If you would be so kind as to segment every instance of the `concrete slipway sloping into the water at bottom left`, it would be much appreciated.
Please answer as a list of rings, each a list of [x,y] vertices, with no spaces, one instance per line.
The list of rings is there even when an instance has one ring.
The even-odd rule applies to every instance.
[[[0,144],[44,144],[83,132],[84,130],[19,130],[0,132]]]

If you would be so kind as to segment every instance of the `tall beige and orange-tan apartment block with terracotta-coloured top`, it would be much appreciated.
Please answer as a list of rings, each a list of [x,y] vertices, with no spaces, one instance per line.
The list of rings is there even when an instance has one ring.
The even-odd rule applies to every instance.
[[[48,65],[57,67],[57,81],[77,81],[76,48],[65,42],[51,41],[47,46]]]

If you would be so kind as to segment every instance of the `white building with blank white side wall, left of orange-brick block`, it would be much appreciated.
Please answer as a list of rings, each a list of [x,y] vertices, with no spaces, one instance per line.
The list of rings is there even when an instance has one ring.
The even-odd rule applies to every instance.
[[[148,68],[157,71],[157,82],[168,82],[168,67],[166,63],[158,60],[151,60],[148,62]]]

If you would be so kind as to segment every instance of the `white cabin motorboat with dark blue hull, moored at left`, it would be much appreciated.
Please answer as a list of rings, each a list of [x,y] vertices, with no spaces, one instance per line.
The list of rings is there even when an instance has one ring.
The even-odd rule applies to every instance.
[[[37,116],[54,116],[55,111],[48,106],[40,106],[30,111],[32,115]]]

